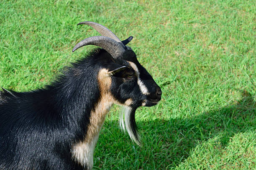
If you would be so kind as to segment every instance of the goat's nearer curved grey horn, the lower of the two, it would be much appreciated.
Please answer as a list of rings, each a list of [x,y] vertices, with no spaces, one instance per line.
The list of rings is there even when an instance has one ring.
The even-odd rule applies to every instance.
[[[77,45],[74,46],[72,52],[85,45],[97,45],[102,47],[115,59],[123,55],[123,52],[125,52],[122,42],[116,42],[112,38],[105,36],[94,36],[86,38],[78,42]]]

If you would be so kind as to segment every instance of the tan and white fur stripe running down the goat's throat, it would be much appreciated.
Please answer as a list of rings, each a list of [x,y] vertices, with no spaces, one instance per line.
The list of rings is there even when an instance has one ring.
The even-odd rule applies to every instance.
[[[87,135],[83,141],[80,141],[72,148],[73,157],[84,167],[92,169],[93,153],[97,143],[100,129],[105,121],[106,114],[115,102],[110,93],[111,77],[108,70],[102,69],[98,73],[98,84],[100,87],[100,100],[95,110],[91,112],[90,124],[87,129]]]

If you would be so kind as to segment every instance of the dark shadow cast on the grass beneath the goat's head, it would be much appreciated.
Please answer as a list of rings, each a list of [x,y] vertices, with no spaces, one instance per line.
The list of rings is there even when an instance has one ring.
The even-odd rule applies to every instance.
[[[224,149],[235,134],[254,131],[255,115],[256,103],[253,97],[248,92],[243,92],[243,98],[235,104],[201,115],[186,119],[138,121],[138,127],[143,132],[141,148],[131,143],[127,134],[120,133],[117,122],[107,121],[95,150],[96,157],[105,161],[97,160],[96,167],[166,169],[168,166],[169,169],[182,163],[189,157],[190,151],[203,142],[214,139]],[[105,156],[104,152],[100,155],[102,148],[107,148]],[[107,158],[107,155],[112,158]],[[105,167],[108,164],[106,160],[112,162],[110,167]]]

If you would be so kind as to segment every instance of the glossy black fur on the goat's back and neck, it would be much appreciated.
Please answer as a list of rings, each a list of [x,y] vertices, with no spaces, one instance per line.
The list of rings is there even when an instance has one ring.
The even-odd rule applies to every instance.
[[[70,150],[86,135],[99,98],[104,52],[73,63],[43,89],[0,93],[0,169],[83,169]]]

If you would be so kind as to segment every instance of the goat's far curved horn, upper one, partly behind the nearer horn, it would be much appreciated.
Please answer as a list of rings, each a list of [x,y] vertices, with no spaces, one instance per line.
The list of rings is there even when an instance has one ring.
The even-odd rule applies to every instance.
[[[99,32],[101,35],[110,37],[116,42],[121,42],[121,40],[112,31],[110,31],[108,28],[106,28],[103,25],[100,25],[98,23],[94,23],[91,21],[84,21],[84,22],[78,23],[77,25],[82,25],[82,24],[90,25],[92,28],[97,30],[97,32]]]

